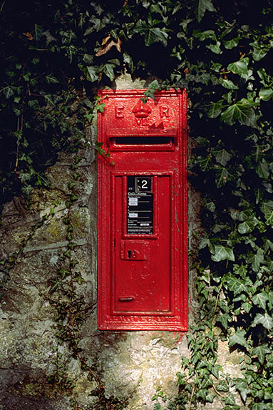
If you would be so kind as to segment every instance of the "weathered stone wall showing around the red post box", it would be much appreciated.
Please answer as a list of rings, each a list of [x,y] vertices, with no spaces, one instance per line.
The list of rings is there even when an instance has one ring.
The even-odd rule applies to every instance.
[[[143,81],[128,76],[118,79],[118,88],[143,88]],[[96,125],[88,131],[96,140]],[[90,144],[91,146],[91,144]],[[69,207],[73,153],[62,153],[46,175],[48,190],[36,189],[31,208],[20,198],[4,207],[1,220],[0,260],[13,257],[0,272],[0,410],[152,410],[152,397],[160,386],[175,394],[177,371],[187,356],[185,334],[179,332],[103,332],[96,327],[96,158],[87,147],[78,154],[78,199]],[[189,190],[190,247],[200,229],[200,198]],[[67,217],[73,227],[73,249],[68,246]],[[57,272],[73,267],[69,292],[50,292]],[[1,265],[0,265],[1,267]],[[75,280],[77,277],[81,280]],[[190,322],[194,321],[194,272],[190,271]],[[57,284],[58,285],[58,284]],[[57,286],[56,285],[56,286]],[[61,286],[61,285],[60,285]],[[81,320],[73,318],[73,302],[81,301]],[[66,305],[68,318],[60,319],[58,308]],[[76,309],[76,308],[75,308]],[[56,321],[58,317],[58,321]],[[60,332],[71,329],[71,338]],[[73,343],[71,342],[73,340]],[[220,360],[233,376],[238,359],[220,345]],[[163,404],[164,408],[165,404]],[[213,407],[216,409],[216,407]]]

